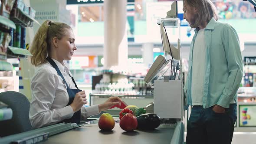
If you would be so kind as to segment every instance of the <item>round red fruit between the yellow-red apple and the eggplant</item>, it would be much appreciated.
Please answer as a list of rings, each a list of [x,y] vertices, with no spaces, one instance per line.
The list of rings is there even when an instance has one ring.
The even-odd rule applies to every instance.
[[[134,115],[127,113],[121,118],[119,124],[125,131],[134,131],[137,128],[138,122]]]

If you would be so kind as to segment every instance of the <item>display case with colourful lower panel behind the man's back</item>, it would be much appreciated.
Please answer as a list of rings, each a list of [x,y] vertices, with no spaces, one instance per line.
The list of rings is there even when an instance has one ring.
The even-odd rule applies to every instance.
[[[237,91],[237,126],[256,127],[256,57],[244,57],[243,69]]]

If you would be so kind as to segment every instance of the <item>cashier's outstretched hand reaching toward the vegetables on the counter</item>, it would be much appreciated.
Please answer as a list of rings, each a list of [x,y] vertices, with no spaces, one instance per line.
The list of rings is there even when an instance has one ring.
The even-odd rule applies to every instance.
[[[99,112],[108,110],[108,108],[111,108],[114,105],[121,105],[121,98],[114,96],[108,98],[107,101],[105,101],[103,104],[98,105]]]

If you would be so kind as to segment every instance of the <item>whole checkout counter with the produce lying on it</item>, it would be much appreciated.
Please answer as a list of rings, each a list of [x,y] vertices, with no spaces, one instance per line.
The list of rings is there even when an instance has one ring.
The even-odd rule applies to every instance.
[[[55,124],[45,128],[26,131],[0,138],[0,144],[34,144],[37,135],[46,134],[39,144],[183,144],[184,125],[161,124],[151,131],[127,132],[115,123],[112,131],[102,131],[98,128],[98,120],[82,122],[81,124]],[[21,143],[26,140],[27,143]],[[20,143],[18,143],[20,141]]]

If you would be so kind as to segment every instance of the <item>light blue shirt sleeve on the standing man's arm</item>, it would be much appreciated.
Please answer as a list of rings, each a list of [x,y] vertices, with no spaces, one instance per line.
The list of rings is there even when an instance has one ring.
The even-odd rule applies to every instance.
[[[228,108],[243,77],[243,60],[240,51],[240,42],[236,30],[230,25],[226,25],[223,29],[223,46],[230,75],[217,105]]]

